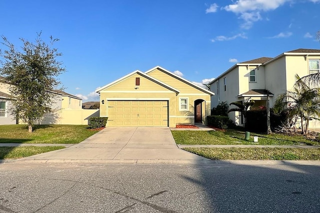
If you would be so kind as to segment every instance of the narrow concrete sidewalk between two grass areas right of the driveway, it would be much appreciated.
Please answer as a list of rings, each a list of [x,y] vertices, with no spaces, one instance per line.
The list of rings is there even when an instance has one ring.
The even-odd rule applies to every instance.
[[[319,149],[320,146],[308,145],[177,145],[179,149],[190,148],[299,148],[299,149]]]

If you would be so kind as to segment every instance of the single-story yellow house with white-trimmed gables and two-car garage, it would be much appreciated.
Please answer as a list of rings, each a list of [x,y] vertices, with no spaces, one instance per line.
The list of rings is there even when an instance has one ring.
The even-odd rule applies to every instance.
[[[205,123],[214,95],[159,66],[133,71],[96,92],[109,127]]]

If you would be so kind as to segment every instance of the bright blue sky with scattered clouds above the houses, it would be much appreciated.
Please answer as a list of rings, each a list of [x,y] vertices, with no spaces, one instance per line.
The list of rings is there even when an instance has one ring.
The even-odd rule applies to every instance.
[[[83,102],[136,69],[206,83],[236,62],[320,49],[320,0],[1,0],[0,35],[52,35],[65,92]],[[3,47],[3,46],[2,46]]]

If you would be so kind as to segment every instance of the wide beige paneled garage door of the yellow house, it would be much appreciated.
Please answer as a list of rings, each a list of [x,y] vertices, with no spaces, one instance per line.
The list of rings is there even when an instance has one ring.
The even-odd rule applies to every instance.
[[[108,101],[109,127],[168,126],[167,101]]]

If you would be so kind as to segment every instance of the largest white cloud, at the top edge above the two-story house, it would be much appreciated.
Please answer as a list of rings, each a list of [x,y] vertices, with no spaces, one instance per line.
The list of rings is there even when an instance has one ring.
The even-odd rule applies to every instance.
[[[237,14],[238,18],[244,20],[240,26],[249,29],[253,22],[262,19],[260,11],[274,10],[287,1],[291,0],[236,0],[222,9]]]

